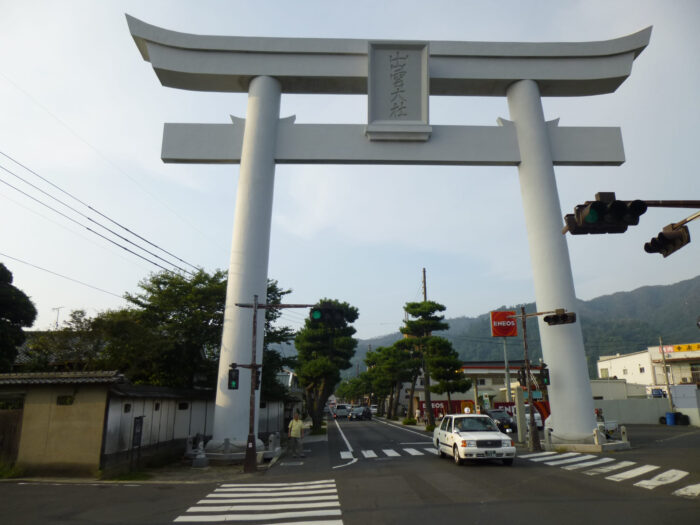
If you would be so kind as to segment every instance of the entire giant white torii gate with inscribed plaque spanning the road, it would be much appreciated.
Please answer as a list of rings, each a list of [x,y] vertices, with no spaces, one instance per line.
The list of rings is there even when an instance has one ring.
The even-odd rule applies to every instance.
[[[648,45],[651,28],[602,42],[373,42],[203,36],[129,15],[127,21],[164,86],[248,93],[245,120],[165,124],[163,135],[165,162],[241,165],[209,451],[221,450],[226,440],[239,450],[246,444],[250,374],[241,374],[239,390],[227,390],[226,383],[229,364],[249,362],[252,345],[252,312],[235,303],[266,293],[277,163],[517,166],[537,309],[575,310],[553,167],[620,165],[622,138],[619,128],[545,122],[540,97],[615,91]],[[368,123],[280,119],[283,92],[367,94]],[[430,95],[505,96],[512,121],[431,126]],[[262,323],[258,328],[260,361]],[[552,441],[589,442],[595,418],[581,326],[539,319],[539,328],[552,378],[546,423]]]

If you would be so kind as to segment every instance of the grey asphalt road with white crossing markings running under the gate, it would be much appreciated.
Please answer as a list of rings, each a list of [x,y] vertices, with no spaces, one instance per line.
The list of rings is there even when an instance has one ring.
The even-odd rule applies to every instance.
[[[197,485],[3,483],[2,522],[696,522],[700,429],[640,427],[632,437],[636,431],[643,445],[621,453],[581,459],[519,450],[510,467],[458,467],[439,459],[423,432],[377,419],[333,422],[327,442],[305,444],[305,458],[283,456],[264,474],[245,479]],[[678,495],[682,489],[689,492]]]

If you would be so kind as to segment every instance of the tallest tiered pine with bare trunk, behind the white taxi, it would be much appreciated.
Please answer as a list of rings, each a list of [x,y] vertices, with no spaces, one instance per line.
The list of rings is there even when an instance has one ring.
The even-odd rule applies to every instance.
[[[425,380],[425,412],[428,417],[428,425],[435,426],[435,416],[432,410],[432,400],[430,398],[430,367],[427,360],[430,357],[430,342],[435,336],[433,332],[447,330],[449,325],[444,322],[444,316],[437,315],[437,312],[444,312],[445,306],[434,301],[422,301],[419,303],[406,303],[404,311],[413,319],[404,321],[404,326],[400,328],[401,333],[406,335],[406,345],[410,345],[414,355],[419,356],[422,361],[423,378]]]

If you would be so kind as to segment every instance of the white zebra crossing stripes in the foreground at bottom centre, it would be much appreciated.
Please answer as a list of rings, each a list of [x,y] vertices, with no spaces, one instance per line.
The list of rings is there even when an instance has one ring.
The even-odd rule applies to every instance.
[[[290,525],[343,525],[335,480],[225,483],[174,521],[282,525],[279,520]]]

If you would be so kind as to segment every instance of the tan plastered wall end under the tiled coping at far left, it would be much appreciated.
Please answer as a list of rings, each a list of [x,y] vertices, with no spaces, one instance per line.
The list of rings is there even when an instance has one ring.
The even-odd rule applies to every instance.
[[[59,396],[73,396],[73,404],[58,405]],[[17,466],[26,472],[96,473],[106,402],[100,385],[27,389]]]

